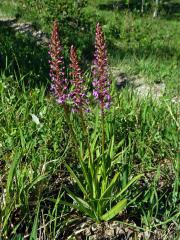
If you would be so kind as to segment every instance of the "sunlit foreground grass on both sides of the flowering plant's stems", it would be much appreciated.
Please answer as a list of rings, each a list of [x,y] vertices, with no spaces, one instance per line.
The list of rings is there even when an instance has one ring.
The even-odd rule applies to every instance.
[[[58,233],[59,226],[63,227],[61,221],[67,221],[69,210],[47,199],[53,196],[59,201],[61,175],[64,176],[65,171],[61,164],[65,159],[75,161],[72,143],[61,109],[45,95],[45,87],[22,90],[17,80],[13,82],[11,88],[12,78],[1,76],[2,197],[5,189],[9,193],[5,201],[1,201],[3,233],[7,236],[32,234],[32,224],[38,214],[38,229],[54,239],[53,234]],[[112,109],[116,116],[116,142],[124,140],[119,164],[122,161],[128,164],[129,176],[137,173],[147,176],[145,187],[139,186],[144,194],[135,203],[134,210],[128,209],[127,215],[133,218],[135,214],[141,222],[139,226],[148,231],[163,226],[166,232],[170,223],[178,219],[177,106],[166,100],[161,104],[150,99],[139,101],[126,90],[116,104]],[[31,114],[39,118],[39,124]],[[35,210],[38,204],[39,213]],[[40,234],[40,230],[36,232]],[[62,233],[63,229],[59,234]],[[175,239],[176,233],[173,234]]]

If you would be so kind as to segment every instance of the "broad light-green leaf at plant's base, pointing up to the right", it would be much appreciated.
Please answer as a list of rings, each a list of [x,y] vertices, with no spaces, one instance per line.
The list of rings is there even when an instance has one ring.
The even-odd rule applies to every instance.
[[[115,217],[118,213],[122,212],[122,210],[125,208],[127,205],[127,199],[123,199],[120,202],[118,202],[111,210],[109,210],[107,213],[105,213],[102,217],[101,220],[104,221],[109,221],[113,217]]]

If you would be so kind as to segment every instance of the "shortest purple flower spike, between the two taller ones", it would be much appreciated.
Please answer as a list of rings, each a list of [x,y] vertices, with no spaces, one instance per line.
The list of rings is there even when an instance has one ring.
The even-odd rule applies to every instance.
[[[72,69],[70,75],[72,77],[71,83],[73,86],[73,89],[70,93],[70,98],[73,101],[72,110],[77,112],[86,108],[87,98],[84,79],[82,78],[81,69],[79,67],[76,49],[73,46],[71,46],[70,50],[70,61],[70,68]]]

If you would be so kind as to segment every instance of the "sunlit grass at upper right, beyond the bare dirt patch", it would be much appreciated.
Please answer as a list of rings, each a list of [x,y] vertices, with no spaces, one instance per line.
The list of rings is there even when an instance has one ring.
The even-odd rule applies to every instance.
[[[109,37],[111,64],[121,72],[143,76],[147,82],[164,82],[168,95],[178,95],[179,86],[179,22],[164,17],[152,19],[119,10],[86,9],[104,16],[104,31]]]

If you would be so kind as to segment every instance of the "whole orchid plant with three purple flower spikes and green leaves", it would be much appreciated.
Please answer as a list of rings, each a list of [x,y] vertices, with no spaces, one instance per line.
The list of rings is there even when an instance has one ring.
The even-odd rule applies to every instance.
[[[91,217],[94,221],[108,221],[121,213],[135,199],[127,198],[129,187],[142,175],[130,181],[122,181],[123,172],[118,166],[119,145],[115,136],[108,133],[106,113],[110,110],[112,97],[111,80],[108,70],[107,49],[102,27],[96,26],[95,53],[92,66],[92,87],[94,102],[88,99],[89,93],[83,77],[76,49],[70,49],[70,74],[66,78],[62,46],[58,35],[58,23],[54,22],[50,41],[50,76],[52,90],[57,102],[63,107],[69,126],[80,170],[74,170],[65,163],[67,170],[79,188],[79,194],[64,186],[73,202],[61,201]],[[67,80],[68,79],[68,80]],[[91,106],[90,106],[91,105]],[[87,115],[91,115],[90,117]],[[78,121],[77,121],[78,119]],[[92,122],[94,122],[92,124]],[[89,129],[93,131],[89,131]],[[108,135],[108,137],[107,137]],[[110,137],[109,137],[110,136]],[[81,172],[80,172],[81,171]],[[126,184],[121,184],[126,182]]]

